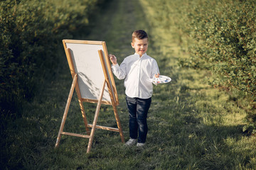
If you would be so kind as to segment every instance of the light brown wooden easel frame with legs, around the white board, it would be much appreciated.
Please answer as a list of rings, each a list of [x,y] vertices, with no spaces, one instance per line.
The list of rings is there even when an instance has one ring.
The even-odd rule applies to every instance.
[[[105,79],[102,82],[102,89],[100,89],[100,95],[96,96],[97,98],[82,98],[81,92],[80,92],[80,86],[78,83],[78,72],[76,72],[75,70],[75,65],[73,63],[73,60],[75,57],[73,57],[73,53],[71,52],[70,48],[67,47],[67,43],[74,43],[74,44],[80,44],[80,45],[102,45],[102,49],[101,50],[97,50],[98,53],[98,57],[100,57],[100,63],[102,65],[102,70],[104,73],[104,77]],[[110,131],[114,131],[114,132],[119,132],[119,135],[121,137],[122,142],[124,142],[124,135],[122,132],[122,127],[121,127],[121,123],[119,120],[119,116],[117,114],[117,105],[119,104],[118,101],[118,96],[117,96],[117,90],[116,90],[116,86],[114,84],[114,77],[112,75],[112,70],[111,70],[111,66],[110,66],[110,60],[108,59],[108,54],[107,54],[107,46],[106,43],[104,41],[83,41],[83,40],[63,40],[63,45],[64,45],[64,49],[65,49],[65,54],[67,56],[68,59],[68,65],[70,67],[70,72],[71,75],[73,77],[73,82],[70,88],[70,93],[68,95],[68,101],[66,103],[65,106],[65,111],[63,114],[63,119],[61,121],[61,125],[60,125],[60,130],[58,132],[58,137],[55,143],[55,147],[58,147],[60,144],[60,138],[62,135],[70,135],[70,136],[75,136],[75,137],[84,137],[84,138],[89,138],[89,142],[88,142],[88,146],[87,146],[87,153],[90,152],[90,149],[92,147],[92,140],[93,137],[95,135],[95,130],[97,129],[102,129],[102,130],[110,130]],[[104,52],[104,55],[103,55]],[[95,56],[94,56],[95,57]],[[109,92],[110,95],[110,100],[109,101],[103,101],[102,97],[104,95],[105,91],[105,85],[107,84],[107,90]],[[73,92],[74,89],[76,90],[77,94],[78,94],[78,102],[80,105],[80,110],[82,112],[82,118],[83,121],[85,123],[85,130],[87,132],[87,135],[80,135],[80,134],[76,134],[76,133],[72,133],[72,132],[63,132],[63,128],[65,125],[65,120],[67,118],[68,115],[68,109],[70,106],[70,102],[71,102],[71,98],[73,96]],[[92,124],[88,124],[87,123],[87,118],[85,115],[85,108],[82,105],[82,102],[89,102],[89,103],[97,103],[97,108],[95,111],[95,117],[93,120]],[[107,104],[107,105],[112,105],[112,108],[114,110],[114,117],[117,121],[117,128],[110,128],[110,127],[106,127],[106,126],[101,126],[101,125],[97,125],[97,118],[99,116],[100,113],[100,106],[102,104]],[[89,129],[91,128],[91,130]]]

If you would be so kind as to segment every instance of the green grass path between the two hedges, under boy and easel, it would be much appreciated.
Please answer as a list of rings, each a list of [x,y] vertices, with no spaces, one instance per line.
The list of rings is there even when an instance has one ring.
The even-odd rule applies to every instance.
[[[105,40],[108,52],[117,55],[120,63],[134,52],[132,31],[140,28],[149,33],[147,53],[172,81],[154,86],[146,147],[125,147],[119,133],[96,130],[90,154],[86,154],[87,139],[65,135],[54,149],[72,83],[65,54],[60,52],[63,63],[55,70],[55,79],[46,80],[40,93],[26,104],[23,118],[6,125],[1,150],[4,169],[255,169],[256,138],[242,133],[245,111],[224,91],[208,86],[208,72],[178,66],[178,59],[186,54],[171,35],[151,27],[150,17],[156,11],[144,2],[142,6],[134,0],[110,1],[95,18],[92,32],[80,33],[77,39]],[[123,81],[115,82],[120,101],[117,110],[128,140]],[[85,103],[90,123],[95,108],[95,104]],[[102,106],[98,124],[116,126],[110,106]],[[64,130],[85,132],[76,94]]]

